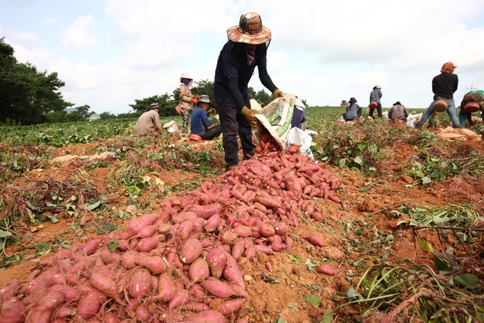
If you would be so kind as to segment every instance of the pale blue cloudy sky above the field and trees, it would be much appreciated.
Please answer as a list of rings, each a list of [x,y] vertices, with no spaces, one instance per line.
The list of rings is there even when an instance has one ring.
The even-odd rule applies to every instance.
[[[227,29],[252,11],[272,32],[272,81],[309,106],[366,107],[379,84],[382,107],[425,108],[445,62],[458,66],[456,105],[484,90],[482,0],[1,0],[0,38],[57,72],[74,107],[119,114],[173,93],[181,73],[213,81]],[[249,86],[265,89],[257,71]]]

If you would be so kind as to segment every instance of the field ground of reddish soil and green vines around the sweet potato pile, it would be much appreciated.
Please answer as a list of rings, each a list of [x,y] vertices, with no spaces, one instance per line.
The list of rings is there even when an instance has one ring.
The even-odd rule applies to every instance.
[[[308,108],[306,118],[342,203],[313,197],[322,219],[297,209],[290,250],[239,260],[248,297],[226,322],[483,321],[483,142],[335,122],[343,109]],[[135,122],[2,127],[0,286],[223,175],[221,140],[138,138]]]

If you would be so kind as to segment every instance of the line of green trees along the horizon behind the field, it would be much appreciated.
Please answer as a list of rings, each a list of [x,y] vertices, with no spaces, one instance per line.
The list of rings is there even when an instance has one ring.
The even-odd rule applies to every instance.
[[[15,50],[0,39],[0,124],[39,124],[70,121],[87,121],[95,114],[89,105],[82,105],[68,112],[66,109],[75,104],[66,102],[59,91],[65,83],[59,80],[56,72],[37,71],[30,62],[19,63],[14,56]],[[214,82],[199,80],[194,82],[194,94],[207,94],[214,102]],[[272,95],[264,90],[254,91],[249,87],[249,96],[265,106],[272,102]],[[149,98],[135,99],[128,104],[133,110],[115,115],[109,111],[100,113],[100,119],[138,118],[147,111],[149,104],[157,103],[162,117],[176,116],[175,107],[179,102],[179,89],[171,94],[153,95]]]

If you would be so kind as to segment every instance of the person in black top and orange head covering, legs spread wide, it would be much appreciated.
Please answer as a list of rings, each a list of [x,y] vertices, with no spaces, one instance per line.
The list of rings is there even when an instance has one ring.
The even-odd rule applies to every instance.
[[[434,101],[431,102],[430,106],[425,111],[422,119],[415,125],[416,128],[422,128],[422,126],[427,122],[432,113],[434,113],[434,104],[437,100],[447,101],[447,114],[449,115],[454,128],[462,128],[460,122],[456,115],[456,106],[454,105],[454,93],[457,91],[458,77],[454,74],[454,68],[456,65],[452,62],[447,62],[443,64],[440,68],[440,74],[434,77],[432,80],[432,92],[434,92]]]

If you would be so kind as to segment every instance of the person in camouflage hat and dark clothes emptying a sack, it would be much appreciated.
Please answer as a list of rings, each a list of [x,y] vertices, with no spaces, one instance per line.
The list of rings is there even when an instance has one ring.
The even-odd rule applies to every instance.
[[[267,48],[270,30],[262,25],[257,12],[241,15],[239,25],[227,29],[229,40],[218,55],[215,69],[214,95],[220,114],[225,151],[225,169],[239,163],[237,133],[241,138],[243,159],[254,155],[252,128],[257,125],[257,110],[250,109],[248,84],[255,67],[263,86],[279,98],[284,93],[277,89],[267,72]]]

